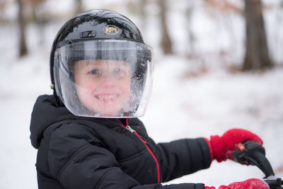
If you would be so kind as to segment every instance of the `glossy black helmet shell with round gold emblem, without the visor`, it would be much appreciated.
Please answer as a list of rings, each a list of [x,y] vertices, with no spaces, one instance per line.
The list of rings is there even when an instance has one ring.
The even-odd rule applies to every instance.
[[[118,30],[107,34],[105,27],[115,25]],[[86,40],[134,40],[144,43],[142,35],[129,18],[120,13],[108,10],[92,10],[81,13],[65,23],[54,39],[50,55],[50,76],[57,104],[62,104],[54,87],[54,53],[59,48],[71,42]]]

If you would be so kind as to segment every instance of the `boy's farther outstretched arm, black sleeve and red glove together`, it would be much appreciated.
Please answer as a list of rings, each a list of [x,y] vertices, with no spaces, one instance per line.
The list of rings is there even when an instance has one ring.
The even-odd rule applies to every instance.
[[[211,139],[182,139],[170,143],[157,145],[163,173],[163,181],[170,181],[188,173],[194,173],[208,168],[211,161],[225,161],[232,159],[232,152],[237,144],[245,141],[254,141],[262,144],[258,135],[248,130],[231,129],[219,137]]]

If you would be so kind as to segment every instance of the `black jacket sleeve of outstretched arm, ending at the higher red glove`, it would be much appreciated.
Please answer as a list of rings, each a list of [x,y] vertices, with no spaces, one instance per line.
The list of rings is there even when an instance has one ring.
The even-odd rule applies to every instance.
[[[194,173],[211,164],[209,146],[205,139],[180,139],[156,145],[163,181]]]

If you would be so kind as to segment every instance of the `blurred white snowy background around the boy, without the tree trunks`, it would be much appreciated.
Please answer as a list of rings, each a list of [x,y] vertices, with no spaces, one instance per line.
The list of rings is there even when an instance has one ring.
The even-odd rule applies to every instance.
[[[71,6],[67,0],[47,2],[45,8],[52,11],[63,10],[68,4]],[[123,6],[109,6],[110,0],[104,4],[100,2],[100,6],[93,5],[92,1],[84,2],[86,9],[111,8],[141,25],[140,19]],[[229,67],[239,66],[243,59],[243,18],[233,13],[225,16],[213,13],[212,16],[204,11],[202,4],[192,4],[191,27],[198,58],[187,59],[184,56],[187,35],[182,30],[186,20],[180,14],[184,11],[182,5],[185,1],[178,2],[171,5],[168,16],[175,55],[163,56],[158,47],[160,35],[159,23],[154,17],[158,12],[156,6],[147,7],[149,18],[146,27],[141,28],[144,40],[154,47],[155,52],[154,90],[146,115],[141,118],[149,134],[156,142],[169,142],[185,137],[223,134],[234,127],[244,128],[262,137],[276,176],[283,177],[282,8],[275,6],[265,12],[270,55],[277,67],[270,71],[242,73],[229,71]],[[275,5],[279,1],[265,1],[265,4]],[[243,5],[240,3],[239,6]],[[14,6],[6,11],[8,16],[15,14]],[[48,24],[40,35],[35,25],[28,25],[30,54],[21,59],[17,57],[16,26],[0,23],[0,188],[37,188],[37,151],[29,139],[30,113],[37,96],[52,93],[49,53],[52,40],[64,21],[67,20]],[[38,36],[45,39],[43,45],[38,44]],[[171,183],[219,186],[263,176],[256,167],[226,161],[221,164],[213,162],[209,169]]]

